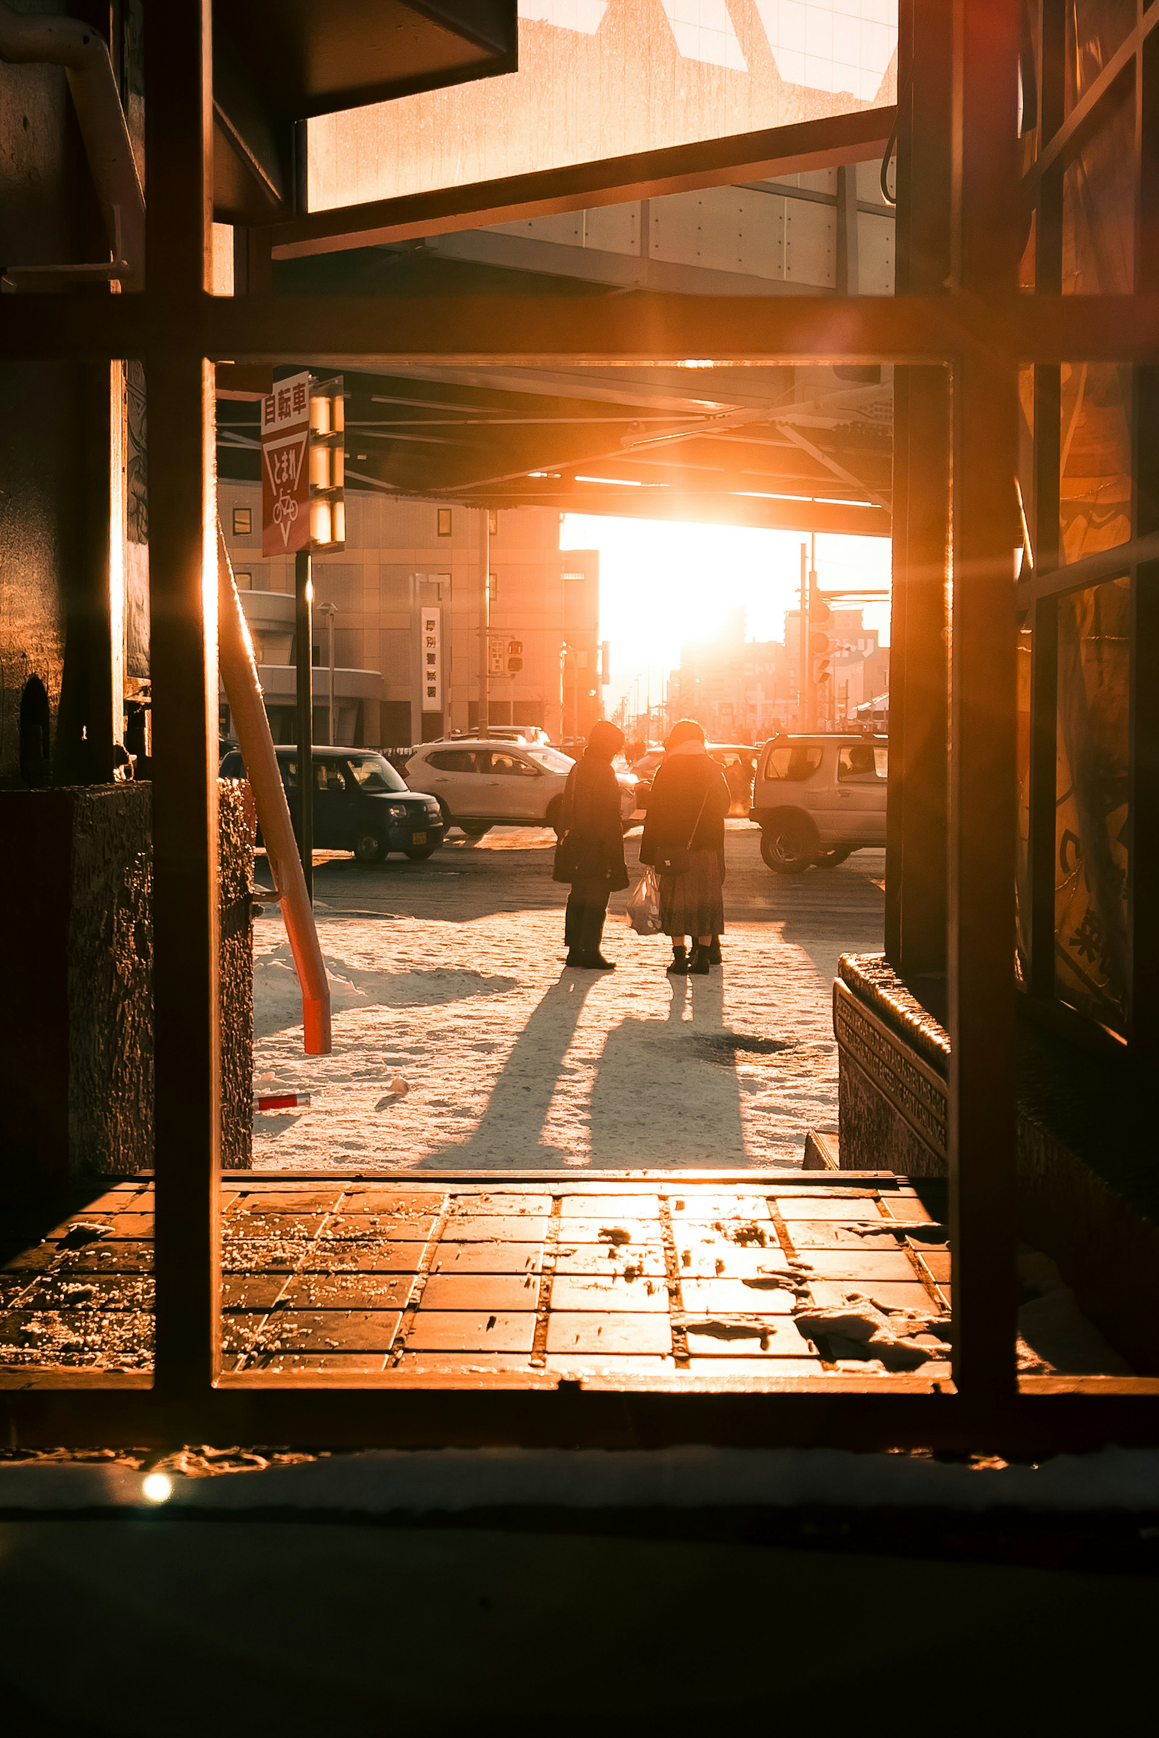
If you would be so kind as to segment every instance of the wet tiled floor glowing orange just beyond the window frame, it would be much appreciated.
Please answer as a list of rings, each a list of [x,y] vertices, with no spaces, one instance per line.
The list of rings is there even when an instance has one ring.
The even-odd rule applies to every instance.
[[[928,1204],[935,1204],[923,1189]],[[0,1272],[0,1385],[148,1371],[153,1191],[127,1180]],[[872,1300],[912,1345],[949,1312],[945,1232],[904,1178],[719,1173],[222,1182],[222,1371],[756,1385],[879,1375],[810,1338]],[[817,1333],[817,1330],[813,1330]],[[857,1347],[853,1347],[857,1354]],[[944,1380],[940,1357],[923,1380]]]

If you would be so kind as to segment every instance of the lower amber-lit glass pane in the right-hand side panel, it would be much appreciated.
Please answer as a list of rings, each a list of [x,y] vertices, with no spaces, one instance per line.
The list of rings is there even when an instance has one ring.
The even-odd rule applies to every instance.
[[[1129,984],[1129,608],[1112,579],[1058,612],[1055,987],[1123,1029]]]

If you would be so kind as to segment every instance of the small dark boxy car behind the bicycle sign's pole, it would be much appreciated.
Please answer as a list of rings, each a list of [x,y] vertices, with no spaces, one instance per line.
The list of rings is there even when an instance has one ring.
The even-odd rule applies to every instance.
[[[297,749],[281,747],[276,754],[290,815],[297,819]],[[353,852],[358,862],[377,864],[387,852],[422,860],[443,843],[438,801],[424,791],[407,789],[394,766],[374,749],[318,747],[313,773],[320,852]],[[221,777],[245,779],[240,749],[226,754]]]

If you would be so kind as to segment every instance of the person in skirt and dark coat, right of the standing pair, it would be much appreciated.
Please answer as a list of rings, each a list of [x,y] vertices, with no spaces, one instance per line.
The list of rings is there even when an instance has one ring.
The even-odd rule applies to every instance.
[[[672,725],[652,780],[639,860],[660,881],[660,928],[672,937],[671,973],[704,975],[719,965],[725,928],[725,815],[730,791],[709,760],[695,718]],[[685,937],[693,939],[692,958]]]

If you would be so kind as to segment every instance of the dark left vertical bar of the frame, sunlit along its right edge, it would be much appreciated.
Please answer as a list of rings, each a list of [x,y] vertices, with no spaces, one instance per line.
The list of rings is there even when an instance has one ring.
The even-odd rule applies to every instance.
[[[210,0],[184,0],[146,36],[146,294],[174,327],[209,282],[209,30]],[[156,1389],[179,1413],[210,1392],[219,1335],[214,389],[196,351],[151,337]]]

